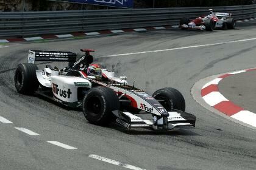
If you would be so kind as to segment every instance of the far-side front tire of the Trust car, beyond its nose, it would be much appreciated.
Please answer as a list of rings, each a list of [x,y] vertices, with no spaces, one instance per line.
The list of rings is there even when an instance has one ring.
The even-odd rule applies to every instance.
[[[167,111],[182,110],[185,111],[185,100],[179,90],[166,87],[158,89],[152,95],[156,100],[160,100],[160,103]]]

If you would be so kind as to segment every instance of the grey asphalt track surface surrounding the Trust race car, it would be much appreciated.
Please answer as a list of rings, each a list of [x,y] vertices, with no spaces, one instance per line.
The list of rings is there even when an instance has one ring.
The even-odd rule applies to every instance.
[[[190,92],[202,78],[256,66],[256,41],[251,39],[256,38],[255,26],[252,21],[241,23],[235,30],[170,29],[1,48],[0,116],[13,124],[0,122],[0,169],[126,169],[125,164],[160,170],[255,169],[255,130],[205,109]],[[236,41],[241,39],[251,40]],[[202,44],[215,45],[199,46]],[[82,48],[96,49],[96,63],[115,70],[117,75],[126,75],[130,84],[134,80],[135,86],[151,94],[161,87],[179,89],[187,101],[187,112],[196,115],[196,127],[127,132],[115,126],[94,126],[80,110],[16,93],[14,69],[27,62],[28,50],[78,52]],[[113,56],[145,51],[151,52]],[[14,127],[40,135],[28,135]],[[46,141],[59,141],[77,149],[60,148]],[[116,166],[88,157],[91,154],[123,164]]]

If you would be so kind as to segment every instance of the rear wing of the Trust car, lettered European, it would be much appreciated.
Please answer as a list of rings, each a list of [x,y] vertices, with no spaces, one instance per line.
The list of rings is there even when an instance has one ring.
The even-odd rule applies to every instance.
[[[76,62],[76,53],[59,51],[29,50],[28,63],[35,61],[65,61],[72,66]]]

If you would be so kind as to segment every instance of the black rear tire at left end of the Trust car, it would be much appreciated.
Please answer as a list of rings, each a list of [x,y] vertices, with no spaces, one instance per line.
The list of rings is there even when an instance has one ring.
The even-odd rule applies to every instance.
[[[15,87],[18,93],[32,95],[38,89],[37,65],[31,63],[19,64],[14,76]]]

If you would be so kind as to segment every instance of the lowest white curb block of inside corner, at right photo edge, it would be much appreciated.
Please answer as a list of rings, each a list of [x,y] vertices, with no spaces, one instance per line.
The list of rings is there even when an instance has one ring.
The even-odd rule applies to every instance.
[[[256,127],[256,114],[247,111],[247,110],[241,110],[237,114],[234,114],[231,116],[232,118],[235,118],[236,120],[243,121],[244,123],[251,124],[252,126]]]

